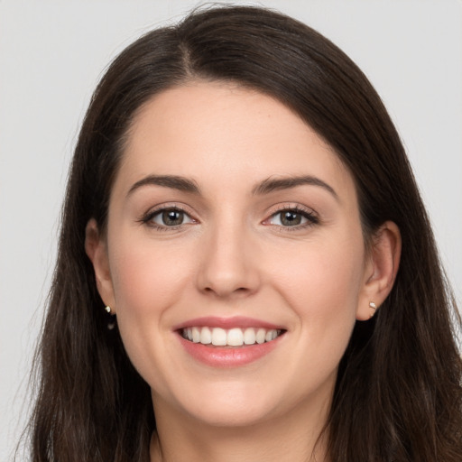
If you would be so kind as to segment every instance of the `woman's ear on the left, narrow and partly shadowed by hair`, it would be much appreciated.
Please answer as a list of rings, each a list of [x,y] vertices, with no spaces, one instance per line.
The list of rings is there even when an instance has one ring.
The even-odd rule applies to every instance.
[[[94,218],[88,221],[85,228],[85,252],[91,263],[93,263],[99,296],[105,305],[111,307],[111,311],[114,314],[114,288],[109,270],[106,239],[100,235],[97,221]]]

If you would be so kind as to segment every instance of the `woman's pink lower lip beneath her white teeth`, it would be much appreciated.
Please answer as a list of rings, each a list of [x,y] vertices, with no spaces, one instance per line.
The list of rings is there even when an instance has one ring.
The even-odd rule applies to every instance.
[[[268,355],[278,346],[282,336],[274,338],[271,342],[254,344],[244,347],[213,347],[194,343],[180,338],[181,345],[194,359],[212,367],[239,367],[248,365]]]

